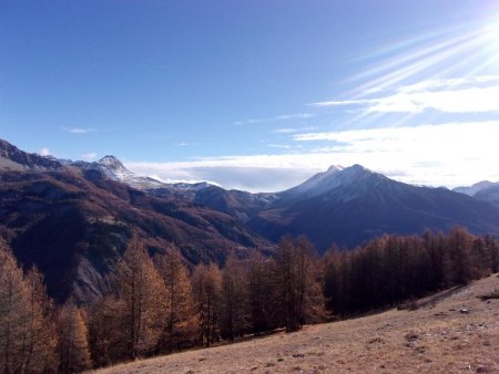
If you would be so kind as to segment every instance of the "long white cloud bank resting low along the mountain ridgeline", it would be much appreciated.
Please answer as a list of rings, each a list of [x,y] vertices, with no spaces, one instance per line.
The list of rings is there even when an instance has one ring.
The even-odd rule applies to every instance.
[[[163,180],[213,180],[224,188],[276,191],[330,165],[361,164],[401,181],[455,187],[499,180],[499,121],[295,135],[332,141],[315,152],[226,156],[183,163],[128,163]]]

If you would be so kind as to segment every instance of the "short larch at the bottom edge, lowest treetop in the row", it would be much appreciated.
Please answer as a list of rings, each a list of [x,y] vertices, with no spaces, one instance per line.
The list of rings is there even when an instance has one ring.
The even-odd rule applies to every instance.
[[[82,311],[68,302],[59,311],[59,354],[61,373],[79,373],[92,367],[89,332]]]

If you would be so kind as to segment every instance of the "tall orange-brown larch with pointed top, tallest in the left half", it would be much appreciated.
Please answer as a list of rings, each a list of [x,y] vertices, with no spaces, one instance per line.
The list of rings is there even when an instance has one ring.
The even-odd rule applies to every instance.
[[[155,349],[163,331],[161,311],[165,285],[144,243],[136,235],[118,262],[113,283],[119,301],[125,355],[130,360],[147,355]]]

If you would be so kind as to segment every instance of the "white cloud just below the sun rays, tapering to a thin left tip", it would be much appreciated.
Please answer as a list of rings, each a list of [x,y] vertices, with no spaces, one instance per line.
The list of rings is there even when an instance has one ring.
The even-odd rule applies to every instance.
[[[393,94],[373,98],[325,101],[314,106],[355,106],[368,113],[499,112],[499,77],[429,80],[399,87]]]

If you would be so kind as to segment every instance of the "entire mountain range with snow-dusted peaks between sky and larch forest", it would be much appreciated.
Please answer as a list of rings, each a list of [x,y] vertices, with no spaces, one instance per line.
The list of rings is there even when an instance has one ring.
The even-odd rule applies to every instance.
[[[151,254],[173,242],[190,266],[223,264],[230,253],[269,254],[286,233],[306,235],[320,252],[452,226],[496,235],[499,184],[417,187],[360,165],[332,166],[272,194],[165,184],[113,156],[62,160],[0,141],[0,237],[26,267],[40,268],[58,300],[86,302],[105,291],[105,274],[134,232]]]

